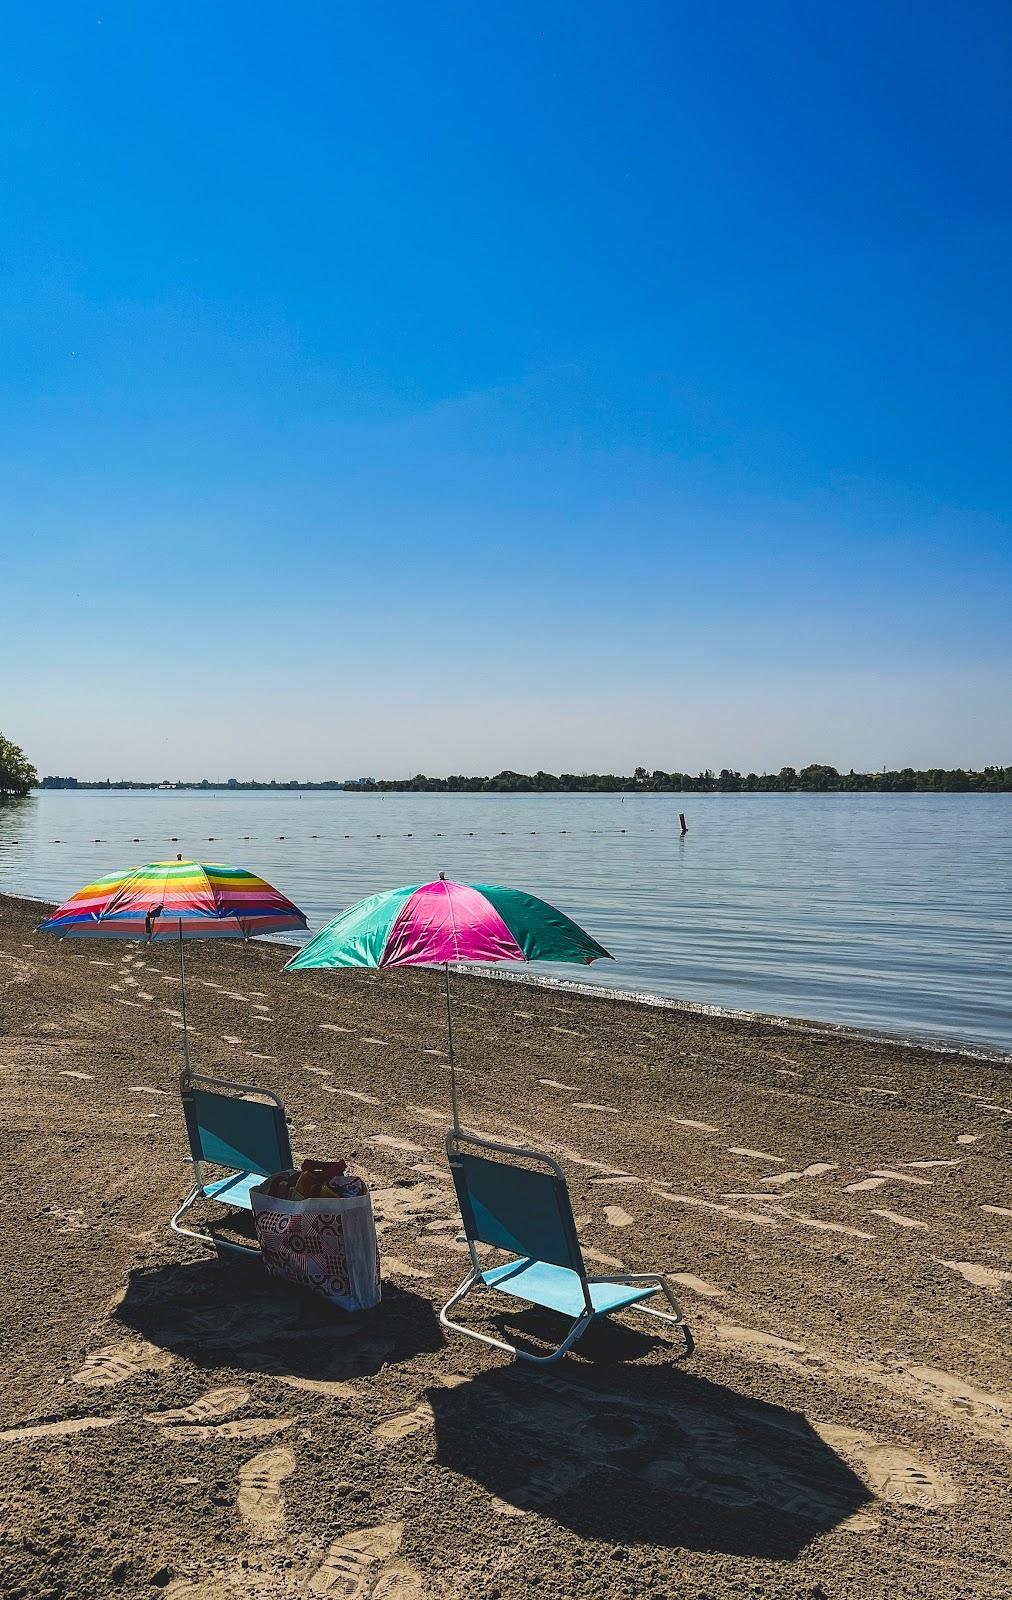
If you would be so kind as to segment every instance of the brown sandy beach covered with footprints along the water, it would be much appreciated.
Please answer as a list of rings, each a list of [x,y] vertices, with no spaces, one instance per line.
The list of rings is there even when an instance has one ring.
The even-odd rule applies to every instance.
[[[676,1275],[697,1338],[536,1373],[437,1322],[437,974],[187,949],[195,1064],[373,1187],[384,1299],[341,1318],[168,1232],[175,950],[40,915],[0,899],[10,1600],[1012,1594],[1009,1066],[456,979],[464,1122],[559,1157],[588,1259]]]

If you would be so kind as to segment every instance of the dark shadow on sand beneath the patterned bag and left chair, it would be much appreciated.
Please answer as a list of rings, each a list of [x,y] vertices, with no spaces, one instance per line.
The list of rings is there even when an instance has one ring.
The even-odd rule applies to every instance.
[[[444,1342],[431,1302],[418,1294],[386,1283],[375,1310],[349,1315],[243,1261],[131,1272],[114,1315],[195,1366],[298,1379],[323,1392]]]

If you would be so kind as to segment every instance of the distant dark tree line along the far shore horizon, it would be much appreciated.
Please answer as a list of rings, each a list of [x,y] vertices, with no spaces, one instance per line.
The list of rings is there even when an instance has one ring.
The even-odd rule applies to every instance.
[[[34,773],[34,770],[32,770]],[[985,766],[980,771],[962,766],[929,766],[921,771],[903,766],[898,771],[839,773],[836,766],[813,763],[796,770],[781,766],[778,773],[737,773],[724,766],[719,773],[665,773],[637,766],[631,776],[620,773],[514,773],[506,768],[492,778],[357,778],[301,782],[298,778],[269,782],[229,778],[213,782],[141,782],[122,778],[104,782],[78,782],[77,778],[43,778],[43,789],[341,789],[352,794],[1007,794],[1012,792],[1012,766]]]

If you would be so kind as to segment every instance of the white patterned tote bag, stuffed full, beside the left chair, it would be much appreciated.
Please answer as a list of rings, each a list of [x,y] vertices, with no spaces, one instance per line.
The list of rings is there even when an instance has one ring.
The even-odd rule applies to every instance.
[[[341,1310],[378,1306],[380,1248],[371,1195],[279,1200],[267,1194],[267,1182],[251,1189],[250,1198],[271,1277],[312,1290]]]

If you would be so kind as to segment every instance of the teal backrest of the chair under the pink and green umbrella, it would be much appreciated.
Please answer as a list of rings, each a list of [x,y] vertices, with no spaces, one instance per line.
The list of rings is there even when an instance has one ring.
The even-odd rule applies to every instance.
[[[549,1171],[532,1171],[509,1160],[490,1160],[461,1149],[484,1146],[506,1155],[541,1162]],[[541,1150],[520,1150],[471,1134],[447,1138],[447,1155],[456,1189],[464,1234],[469,1240],[568,1267],[586,1278],[583,1251],[560,1166]]]

